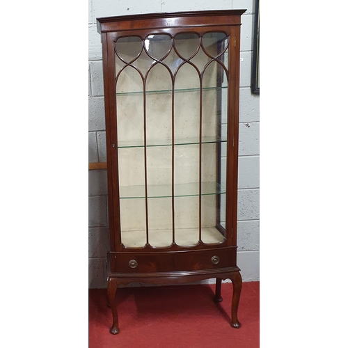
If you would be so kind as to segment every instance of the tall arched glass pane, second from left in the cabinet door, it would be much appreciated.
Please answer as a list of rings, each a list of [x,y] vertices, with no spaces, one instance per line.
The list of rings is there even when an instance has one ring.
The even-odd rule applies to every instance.
[[[166,36],[168,35],[157,35]],[[150,41],[152,54],[162,58],[161,38]],[[157,43],[159,46],[157,46]],[[171,42],[169,48],[171,47]],[[168,47],[166,48],[168,50]],[[173,240],[172,216],[172,79],[164,65],[152,66],[146,77],[146,170],[148,182],[148,228],[152,246],[170,246]],[[166,93],[148,93],[166,90]],[[160,143],[167,146],[151,146]],[[163,198],[159,198],[163,197]]]

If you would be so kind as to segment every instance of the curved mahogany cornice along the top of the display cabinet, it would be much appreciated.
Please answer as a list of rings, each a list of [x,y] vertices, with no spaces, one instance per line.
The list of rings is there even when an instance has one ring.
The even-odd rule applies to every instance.
[[[206,10],[174,13],[145,13],[97,18],[97,31],[159,29],[177,26],[240,25],[246,10]]]

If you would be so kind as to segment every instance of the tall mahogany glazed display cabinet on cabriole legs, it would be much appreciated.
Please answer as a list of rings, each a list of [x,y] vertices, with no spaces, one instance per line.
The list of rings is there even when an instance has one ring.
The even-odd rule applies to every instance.
[[[119,332],[118,285],[208,278],[216,278],[215,301],[222,301],[221,280],[232,280],[231,326],[240,326],[237,164],[244,11],[97,19],[113,334]]]

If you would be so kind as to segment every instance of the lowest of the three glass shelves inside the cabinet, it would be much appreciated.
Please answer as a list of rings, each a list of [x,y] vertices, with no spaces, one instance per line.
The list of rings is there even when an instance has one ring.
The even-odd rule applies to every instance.
[[[218,182],[202,182],[202,196],[226,193],[226,187]],[[174,197],[198,196],[199,183],[175,184]],[[172,196],[172,185],[148,185],[148,198],[169,198]],[[145,187],[120,186],[120,198],[145,198]]]

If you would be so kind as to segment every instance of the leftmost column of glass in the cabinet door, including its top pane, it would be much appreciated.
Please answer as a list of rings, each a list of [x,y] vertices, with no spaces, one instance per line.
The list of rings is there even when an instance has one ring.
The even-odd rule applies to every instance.
[[[143,79],[132,66],[124,68],[121,59],[134,61],[141,54],[142,41],[138,37],[120,38],[115,48],[121,242],[132,248],[146,244],[144,152],[143,148],[120,146],[134,141],[144,143],[143,94],[129,94],[143,90]],[[134,191],[136,195],[129,194]],[[127,199],[133,196],[142,198]]]

